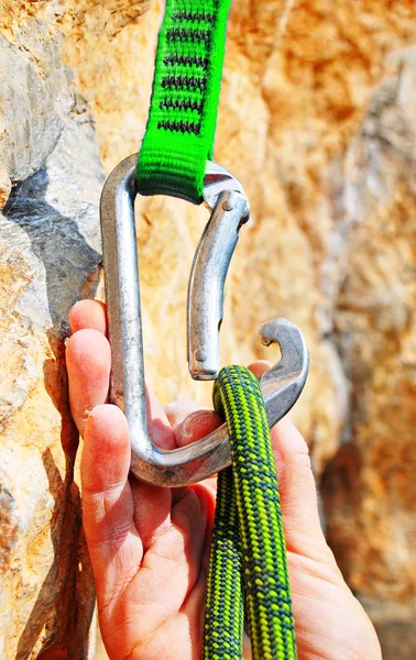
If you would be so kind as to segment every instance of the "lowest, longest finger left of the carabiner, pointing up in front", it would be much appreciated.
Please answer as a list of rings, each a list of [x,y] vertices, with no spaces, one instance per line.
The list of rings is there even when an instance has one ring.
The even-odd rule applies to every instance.
[[[124,415],[117,406],[97,406],[85,425],[80,475],[84,528],[101,604],[135,574],[143,556],[129,468]]]

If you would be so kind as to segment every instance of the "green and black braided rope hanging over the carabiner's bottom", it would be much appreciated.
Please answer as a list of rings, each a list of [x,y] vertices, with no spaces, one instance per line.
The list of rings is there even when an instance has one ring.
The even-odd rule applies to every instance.
[[[277,477],[273,460],[270,430],[260,386],[253,374],[241,366],[221,370],[215,392],[215,407],[225,414],[231,446],[233,490],[220,488],[212,539],[212,553],[218,552],[218,531],[227,530],[237,504],[245,614],[253,660],[295,660],[295,626],[287,572],[286,546],[282,524]],[[222,482],[222,476],[220,475]],[[229,479],[229,477],[227,477]],[[217,592],[217,584],[221,590]],[[239,620],[241,596],[239,586],[228,581],[222,558],[210,561],[206,603],[204,658],[206,660],[242,657],[239,630],[239,651],[229,654],[222,630],[228,629],[223,617],[223,601],[233,603],[233,617]],[[226,594],[226,595],[225,595]],[[210,613],[219,613],[215,626]],[[227,617],[229,617],[229,612]],[[236,627],[237,629],[237,627]],[[215,646],[214,646],[215,640]],[[227,644],[229,639],[227,637]]]

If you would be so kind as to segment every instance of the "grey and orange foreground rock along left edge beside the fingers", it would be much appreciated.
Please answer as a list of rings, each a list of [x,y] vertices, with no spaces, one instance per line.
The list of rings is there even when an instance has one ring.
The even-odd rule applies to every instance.
[[[7,62],[18,62],[20,51],[10,48]],[[86,108],[78,103],[69,112],[67,87],[66,114],[48,118],[51,97],[43,94],[50,79],[37,85],[25,67],[15,88],[15,124],[9,109],[6,117],[14,133],[8,129],[1,145],[12,178],[36,172],[17,184],[0,216],[0,656],[76,659],[92,651],[95,594],[74,482],[78,436],[63,342],[68,307],[100,258],[103,173]],[[36,122],[39,134],[20,133]]]

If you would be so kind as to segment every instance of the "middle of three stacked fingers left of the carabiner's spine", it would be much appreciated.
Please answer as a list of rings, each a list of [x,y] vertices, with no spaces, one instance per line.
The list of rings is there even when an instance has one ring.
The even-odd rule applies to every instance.
[[[111,354],[98,330],[78,330],[66,344],[69,402],[78,430],[84,435],[88,414],[107,402]]]

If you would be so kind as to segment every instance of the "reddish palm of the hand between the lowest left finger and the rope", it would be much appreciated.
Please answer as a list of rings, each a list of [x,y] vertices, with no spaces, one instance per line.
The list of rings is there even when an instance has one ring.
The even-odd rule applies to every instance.
[[[99,618],[110,658],[200,658],[206,580],[208,488],[175,501],[168,490],[131,484],[140,503],[125,534],[116,585],[98,592]],[[157,512],[157,517],[143,510]],[[120,553],[119,550],[119,553]]]

